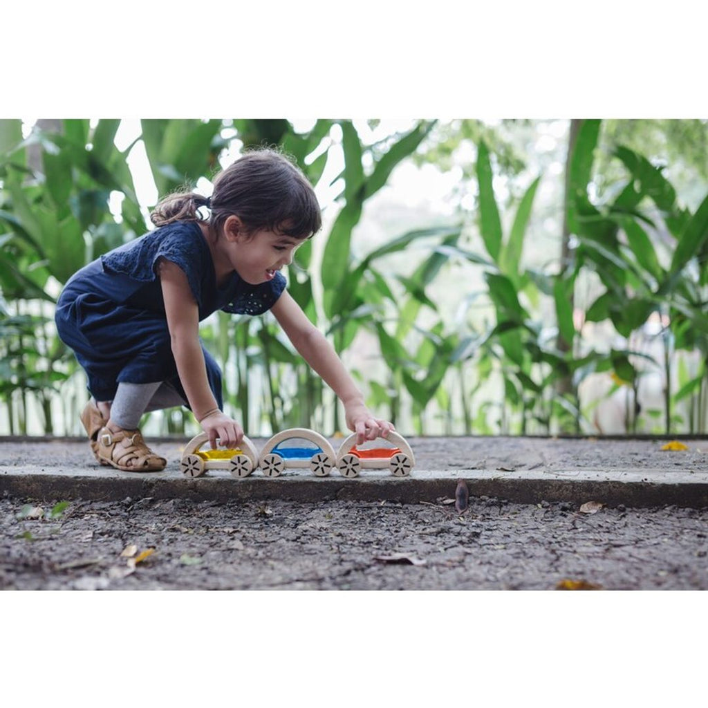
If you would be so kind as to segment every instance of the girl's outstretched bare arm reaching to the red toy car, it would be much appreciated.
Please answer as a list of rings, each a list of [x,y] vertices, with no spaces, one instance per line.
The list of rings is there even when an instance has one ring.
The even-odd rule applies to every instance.
[[[364,440],[385,438],[395,430],[387,421],[375,418],[364,404],[364,396],[344,368],[334,348],[317,329],[297,302],[285,290],[271,312],[305,361],[321,376],[344,404],[346,422],[357,434],[357,445]]]

